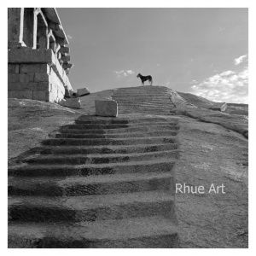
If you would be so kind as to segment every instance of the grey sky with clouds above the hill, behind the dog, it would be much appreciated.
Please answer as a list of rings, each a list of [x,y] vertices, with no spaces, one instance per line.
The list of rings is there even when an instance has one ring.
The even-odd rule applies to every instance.
[[[247,103],[245,8],[57,8],[67,34],[73,89],[153,85],[214,102]],[[145,84],[147,84],[146,82]]]

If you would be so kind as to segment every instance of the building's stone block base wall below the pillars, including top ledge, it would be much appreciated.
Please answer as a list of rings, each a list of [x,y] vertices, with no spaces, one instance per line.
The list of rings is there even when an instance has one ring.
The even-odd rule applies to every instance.
[[[60,102],[72,91],[67,74],[51,49],[10,49],[9,98]]]

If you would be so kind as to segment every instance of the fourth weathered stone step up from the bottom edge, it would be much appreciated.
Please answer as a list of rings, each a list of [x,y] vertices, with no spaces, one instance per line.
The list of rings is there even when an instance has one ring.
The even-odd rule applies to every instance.
[[[111,163],[102,165],[27,165],[12,166],[9,176],[39,177],[39,176],[90,176],[125,173],[172,172],[175,161],[156,159],[126,163]]]

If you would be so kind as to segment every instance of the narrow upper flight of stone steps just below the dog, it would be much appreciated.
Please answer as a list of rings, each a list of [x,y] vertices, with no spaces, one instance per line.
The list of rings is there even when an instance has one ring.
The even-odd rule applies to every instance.
[[[119,113],[173,114],[170,110],[174,105],[165,86],[119,88],[112,97],[119,104]]]

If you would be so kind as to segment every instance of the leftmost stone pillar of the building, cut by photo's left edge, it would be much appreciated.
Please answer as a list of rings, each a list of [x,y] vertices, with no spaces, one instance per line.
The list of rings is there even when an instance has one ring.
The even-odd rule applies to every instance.
[[[23,42],[24,8],[8,9],[8,48],[26,46]]]

